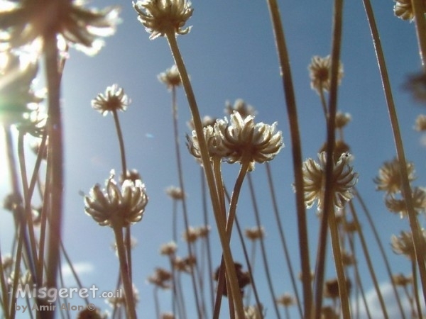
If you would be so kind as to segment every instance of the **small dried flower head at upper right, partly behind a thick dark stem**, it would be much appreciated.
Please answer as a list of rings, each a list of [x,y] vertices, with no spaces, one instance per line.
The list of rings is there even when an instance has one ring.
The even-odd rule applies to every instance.
[[[331,85],[331,68],[332,58],[330,55],[327,57],[319,57],[315,55],[312,57],[311,63],[308,67],[311,79],[311,88],[315,89],[318,93],[320,91],[329,91]],[[337,83],[340,84],[343,77],[343,65],[339,62],[339,69],[337,71]]]

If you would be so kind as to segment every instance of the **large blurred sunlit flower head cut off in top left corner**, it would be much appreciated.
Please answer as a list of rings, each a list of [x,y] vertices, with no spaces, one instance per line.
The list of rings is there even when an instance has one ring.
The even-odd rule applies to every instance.
[[[13,2],[15,6],[0,11],[0,29],[7,31],[1,40],[11,47],[55,33],[58,43],[65,41],[92,55],[102,47],[102,37],[114,34],[119,23],[118,6],[97,10],[86,9],[77,0],[47,0],[43,6],[33,0]]]

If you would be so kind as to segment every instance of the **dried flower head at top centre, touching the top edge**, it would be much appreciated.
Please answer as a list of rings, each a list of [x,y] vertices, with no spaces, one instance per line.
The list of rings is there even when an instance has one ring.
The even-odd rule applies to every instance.
[[[183,26],[192,16],[194,9],[186,0],[138,0],[133,2],[133,9],[138,13],[138,20],[146,31],[151,33],[151,40],[170,32],[190,32],[191,27]]]

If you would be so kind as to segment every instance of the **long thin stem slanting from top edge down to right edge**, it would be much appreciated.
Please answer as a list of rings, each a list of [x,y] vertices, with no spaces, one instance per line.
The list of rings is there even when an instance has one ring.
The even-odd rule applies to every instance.
[[[373,45],[376,52],[378,69],[381,74],[381,81],[383,85],[383,91],[385,94],[386,104],[388,106],[389,119],[391,121],[393,140],[395,142],[395,149],[398,156],[398,163],[400,164],[400,177],[402,181],[402,194],[405,199],[405,206],[408,211],[408,220],[410,222],[410,228],[413,233],[413,244],[415,250],[415,257],[417,260],[417,266],[420,272],[420,281],[422,282],[423,298],[426,301],[426,265],[425,265],[425,240],[422,236],[422,231],[417,220],[417,215],[413,208],[413,196],[410,187],[410,181],[408,180],[407,163],[405,161],[405,152],[403,146],[403,140],[400,134],[400,128],[398,124],[398,116],[395,110],[395,103],[393,102],[391,83],[389,82],[388,69],[386,67],[385,57],[383,55],[383,49],[381,46],[381,40],[378,35],[376,26],[376,20],[374,18],[373,9],[369,0],[364,1],[364,9],[366,11],[368,26],[371,30],[371,37],[373,38]],[[416,2],[416,1],[415,1]]]

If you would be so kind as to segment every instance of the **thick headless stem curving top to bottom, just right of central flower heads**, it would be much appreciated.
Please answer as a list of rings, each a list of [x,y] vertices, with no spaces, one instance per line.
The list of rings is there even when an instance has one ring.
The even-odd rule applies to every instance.
[[[290,59],[288,57],[287,45],[285,43],[283,24],[281,23],[280,12],[276,0],[267,0],[275,44],[278,50],[280,61],[280,74],[283,78],[283,91],[287,105],[288,124],[290,126],[290,138],[293,156],[293,172],[295,174],[295,200],[297,210],[298,242],[300,245],[300,264],[302,268],[302,285],[304,301],[304,318],[311,318],[312,313],[312,286],[310,280],[310,256],[307,236],[307,220],[305,208],[305,196],[303,192],[302,174],[302,144],[300,142],[299,125],[297,120],[297,107],[295,92],[290,69]]]

